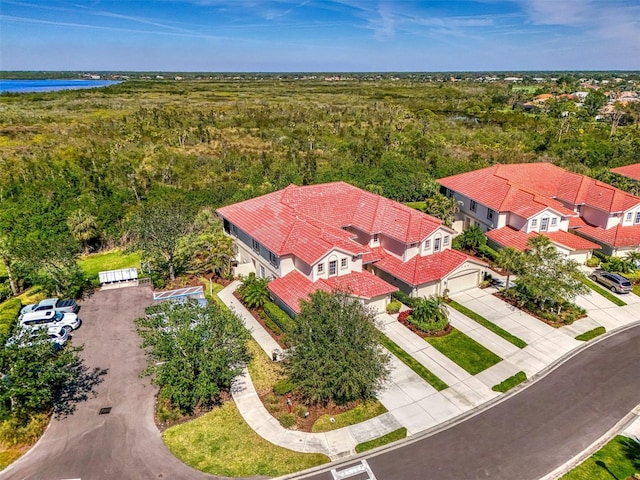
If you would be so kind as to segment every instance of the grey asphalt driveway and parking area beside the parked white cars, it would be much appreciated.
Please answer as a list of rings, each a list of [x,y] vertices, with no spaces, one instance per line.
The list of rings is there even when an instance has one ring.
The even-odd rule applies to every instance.
[[[1,479],[206,479],[164,446],[153,421],[156,388],[148,377],[133,320],[151,303],[143,287],[104,290],[82,303],[83,326],[73,336],[84,344],[85,364],[106,369],[97,396],[53,420],[37,445],[10,465]],[[101,408],[111,407],[108,414]]]

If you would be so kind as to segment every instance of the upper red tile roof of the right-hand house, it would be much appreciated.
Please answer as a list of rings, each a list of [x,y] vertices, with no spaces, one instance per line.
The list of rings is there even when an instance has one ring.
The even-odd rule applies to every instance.
[[[518,213],[521,209],[519,214],[525,218],[531,215],[529,212],[537,213],[545,207],[565,216],[576,215],[560,200],[607,212],[621,212],[640,204],[638,197],[551,163],[494,165],[438,182],[499,212]]]

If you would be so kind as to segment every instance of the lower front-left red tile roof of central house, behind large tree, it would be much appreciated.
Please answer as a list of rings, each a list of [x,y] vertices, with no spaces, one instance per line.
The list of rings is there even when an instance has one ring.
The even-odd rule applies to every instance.
[[[312,282],[297,270],[269,282],[269,290],[295,313],[300,313],[300,300],[318,290],[344,290],[359,298],[371,299],[388,295],[398,289],[366,270]]]

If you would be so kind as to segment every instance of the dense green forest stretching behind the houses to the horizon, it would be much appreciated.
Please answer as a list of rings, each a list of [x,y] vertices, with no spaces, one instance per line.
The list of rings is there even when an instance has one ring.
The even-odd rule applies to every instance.
[[[640,102],[615,129],[573,102],[520,108],[575,88],[574,77],[219,75],[2,94],[0,257],[27,283],[43,265],[73,276],[65,259],[126,246],[144,205],[195,213],[290,183],[344,180],[408,202],[432,195],[439,177],[544,160],[633,188],[608,169],[640,161]]]

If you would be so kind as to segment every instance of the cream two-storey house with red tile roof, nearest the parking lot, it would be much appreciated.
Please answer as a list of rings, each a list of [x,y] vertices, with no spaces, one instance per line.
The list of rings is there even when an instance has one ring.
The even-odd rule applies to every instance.
[[[344,182],[287,188],[217,210],[237,245],[236,274],[271,277],[290,313],[316,290],[342,289],[384,311],[414,296],[477,286],[485,264],[451,250],[436,218]]]

